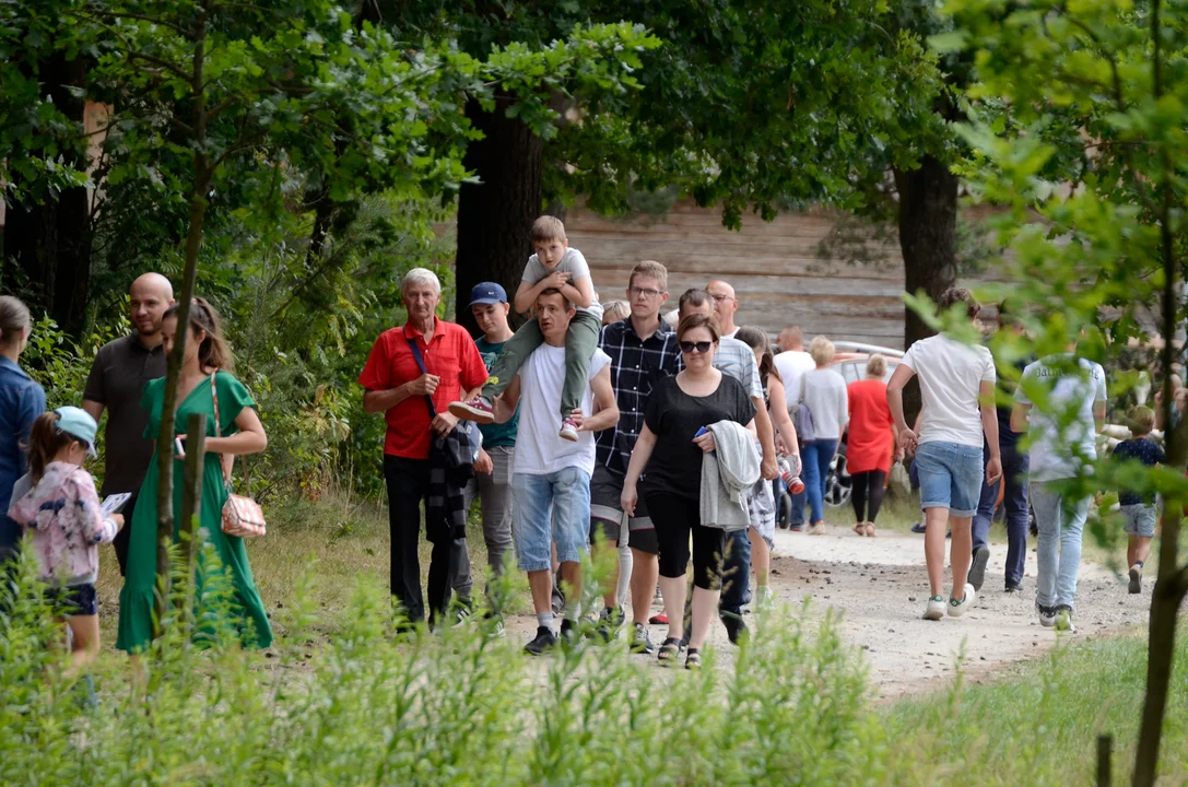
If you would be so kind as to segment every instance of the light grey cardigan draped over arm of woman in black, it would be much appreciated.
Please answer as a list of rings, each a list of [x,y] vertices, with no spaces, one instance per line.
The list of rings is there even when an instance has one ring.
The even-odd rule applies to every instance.
[[[701,460],[701,524],[742,530],[751,524],[747,492],[760,476],[754,437],[735,421],[719,421],[707,428],[716,449]]]

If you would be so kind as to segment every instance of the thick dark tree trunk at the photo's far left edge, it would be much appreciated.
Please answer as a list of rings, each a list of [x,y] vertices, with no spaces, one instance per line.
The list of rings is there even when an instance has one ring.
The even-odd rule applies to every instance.
[[[82,132],[86,103],[70,88],[82,87],[87,77],[83,58],[67,59],[57,53],[44,63],[39,76],[42,95]],[[87,168],[86,146],[62,145],[65,165]],[[64,330],[80,335],[87,322],[90,289],[90,204],[84,187],[65,189],[40,203],[15,202],[7,213],[4,253],[24,273],[30,285],[27,297],[36,310],[44,310]],[[10,283],[11,288],[11,283]]]

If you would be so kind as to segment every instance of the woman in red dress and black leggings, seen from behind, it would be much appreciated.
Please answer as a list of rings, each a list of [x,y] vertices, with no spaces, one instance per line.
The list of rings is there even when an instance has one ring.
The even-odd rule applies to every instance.
[[[866,379],[851,383],[849,441],[846,445],[846,465],[853,479],[851,502],[854,504],[854,533],[874,536],[874,518],[883,504],[891,452],[895,443],[895,421],[887,405],[886,358],[871,355],[866,361]]]

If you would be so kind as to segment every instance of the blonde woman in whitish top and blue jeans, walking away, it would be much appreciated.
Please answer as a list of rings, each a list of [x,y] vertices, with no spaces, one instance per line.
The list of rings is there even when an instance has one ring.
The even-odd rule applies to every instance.
[[[829,476],[829,462],[838,453],[838,442],[849,421],[849,396],[846,379],[829,369],[835,354],[833,342],[817,336],[809,346],[809,354],[816,369],[804,372],[801,378],[803,396],[813,416],[813,440],[801,442],[801,459],[804,461],[804,486],[809,496],[809,512],[813,525],[809,535],[824,535],[824,481]]]

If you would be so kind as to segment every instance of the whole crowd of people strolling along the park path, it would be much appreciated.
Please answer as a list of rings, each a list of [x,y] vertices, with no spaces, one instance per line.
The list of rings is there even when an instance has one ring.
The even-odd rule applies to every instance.
[[[685,666],[697,668],[715,618],[737,643],[746,634],[744,606],[772,598],[781,500],[791,497],[790,527],[826,533],[826,479],[845,439],[859,536],[876,535],[892,462],[912,461],[930,586],[924,618],[960,617],[975,603],[1001,497],[1005,592],[1023,587],[1030,509],[1038,529],[1040,622],[1074,628],[1091,500],[1072,493],[1066,481],[1095,460],[1106,405],[1105,371],[1078,357],[1075,347],[1026,365],[1012,405],[996,405],[990,351],[943,333],[912,345],[889,380],[887,359],[872,354],[865,379],[847,385],[827,338],[816,336],[805,351],[800,328],[790,326],[773,347],[765,330],[738,326],[739,298],[725,281],[681,294],[670,320],[662,316],[670,300],[664,265],[639,263],[626,282],[626,300],[602,306],[561,221],[537,220],[532,245],[511,298],[498,283],[473,288],[469,310],[480,330],[474,339],[437,316],[437,276],[409,271],[402,288],[407,321],[375,340],[360,373],[364,409],[386,421],[391,592],[403,625],[453,624],[454,616],[466,619],[481,609],[501,631],[506,599],[493,580],[508,571],[514,553],[537,618],[525,650],[546,653],[577,636],[583,612],[595,615],[582,610],[582,559],[593,549],[613,566],[600,587],[595,631],[611,640],[627,625],[621,605],[630,592],[631,649],[669,663],[683,654]],[[187,416],[203,414],[209,426],[197,533],[208,548],[200,560],[216,555],[219,568],[211,562],[198,577],[221,575],[233,599],[227,619],[211,625],[226,624],[245,644],[267,647],[268,618],[244,541],[220,524],[230,459],[267,445],[252,396],[233,374],[209,303],[195,298],[189,323],[181,326],[169,281],[146,273],[132,284],[129,306],[134,330],[100,350],[81,391],[82,408],[46,411],[43,390],[19,364],[31,332],[29,309],[0,297],[6,427],[0,510],[7,511],[0,517],[0,559],[29,534],[49,592],[65,610],[81,666],[99,647],[97,544],[112,542],[124,577],[115,644],[143,650],[152,636],[156,593],[158,457],[169,452],[181,478]],[[955,306],[977,320],[980,307],[968,290],[944,294],[941,307]],[[532,313],[514,332],[513,308]],[[1000,329],[1018,330],[1005,310],[999,320]],[[177,440],[162,443],[165,357],[178,330],[187,330],[188,340]],[[903,391],[912,377],[922,409],[909,426]],[[1036,402],[1066,405],[1072,415],[1056,418]],[[96,490],[83,466],[95,453],[105,411],[106,467]],[[1155,414],[1136,408],[1130,421],[1132,437],[1114,458],[1148,466],[1164,461],[1149,439]],[[1025,432],[1032,435],[1024,442]],[[119,511],[101,503],[118,495],[127,496]],[[181,498],[182,485],[175,484],[175,522]],[[474,600],[466,540],[475,498],[491,580],[484,604]],[[1137,593],[1156,500],[1124,492],[1120,504],[1130,536],[1130,591]],[[424,593],[422,527],[431,543]],[[652,615],[657,590],[662,615]],[[650,635],[653,623],[668,627],[658,647]]]

